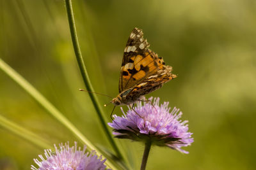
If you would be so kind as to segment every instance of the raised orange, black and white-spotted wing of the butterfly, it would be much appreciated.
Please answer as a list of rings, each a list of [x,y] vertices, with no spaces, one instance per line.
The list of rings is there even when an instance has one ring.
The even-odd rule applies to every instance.
[[[157,88],[157,85],[157,89],[159,89],[161,83],[176,77],[175,74],[171,73],[172,67],[164,66],[162,57],[158,57],[156,53],[148,49],[148,46],[147,39],[143,38],[141,29],[134,28],[124,50],[119,92],[137,87],[140,83],[142,83],[141,89],[147,89],[149,88],[148,85],[146,87],[143,83],[153,83],[153,81],[156,83],[153,83],[151,89]]]

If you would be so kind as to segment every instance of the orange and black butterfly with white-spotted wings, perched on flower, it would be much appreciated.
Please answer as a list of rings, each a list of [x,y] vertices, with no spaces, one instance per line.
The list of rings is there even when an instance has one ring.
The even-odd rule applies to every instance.
[[[172,74],[172,67],[166,66],[149,46],[142,30],[135,27],[124,49],[119,94],[111,101],[115,106],[134,104],[177,77]]]

